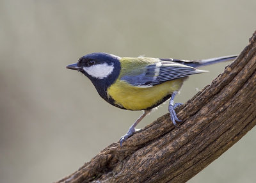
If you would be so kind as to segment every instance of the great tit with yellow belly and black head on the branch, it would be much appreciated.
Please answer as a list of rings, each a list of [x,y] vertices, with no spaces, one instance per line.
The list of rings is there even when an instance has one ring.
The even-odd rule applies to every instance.
[[[172,58],[129,58],[95,52],[87,54],[68,65],[88,77],[102,99],[109,104],[132,111],[143,110],[143,115],[134,122],[127,134],[120,139],[120,146],[135,131],[136,125],[154,107],[170,99],[168,111],[173,125],[180,122],[175,107],[181,105],[173,100],[183,82],[192,74],[207,72],[196,67],[221,61],[235,60],[236,56],[223,56],[207,60],[175,60]]]

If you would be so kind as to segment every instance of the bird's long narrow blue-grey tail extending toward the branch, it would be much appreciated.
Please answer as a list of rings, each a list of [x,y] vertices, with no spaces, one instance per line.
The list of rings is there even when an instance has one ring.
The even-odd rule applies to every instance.
[[[205,65],[211,65],[214,63],[219,63],[222,61],[233,61],[236,60],[237,55],[230,55],[230,56],[221,56],[218,58],[209,58],[204,60],[182,60],[184,65],[188,65],[190,67],[201,67]],[[173,60],[176,61],[176,60]]]

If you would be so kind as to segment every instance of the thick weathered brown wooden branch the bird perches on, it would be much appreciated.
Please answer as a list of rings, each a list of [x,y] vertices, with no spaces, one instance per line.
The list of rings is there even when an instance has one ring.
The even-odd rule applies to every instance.
[[[186,182],[256,124],[256,31],[236,61],[177,109],[58,182]]]

